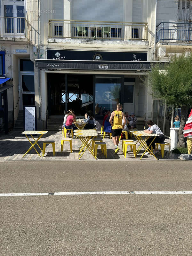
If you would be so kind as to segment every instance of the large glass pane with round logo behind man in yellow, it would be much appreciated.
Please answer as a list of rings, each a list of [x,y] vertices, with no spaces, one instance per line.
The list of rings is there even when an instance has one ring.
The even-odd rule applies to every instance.
[[[95,115],[103,115],[104,110],[116,110],[120,102],[121,77],[96,77]]]

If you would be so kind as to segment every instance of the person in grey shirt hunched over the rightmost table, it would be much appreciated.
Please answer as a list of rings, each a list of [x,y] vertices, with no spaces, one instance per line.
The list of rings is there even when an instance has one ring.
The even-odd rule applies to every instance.
[[[147,130],[145,130],[146,133],[149,133],[149,134],[156,133],[159,135],[158,137],[155,137],[155,140],[153,141],[152,144],[151,144],[151,141],[154,139],[154,137],[151,137],[146,141],[147,146],[149,146],[151,144],[151,146],[153,147],[153,149],[154,149],[153,154],[156,154],[158,152],[158,150],[155,150],[155,143],[164,142],[165,137],[164,137],[163,132],[159,128],[159,126],[154,124],[152,120],[148,120],[147,125],[149,128]],[[149,155],[149,152],[146,152],[145,154]]]

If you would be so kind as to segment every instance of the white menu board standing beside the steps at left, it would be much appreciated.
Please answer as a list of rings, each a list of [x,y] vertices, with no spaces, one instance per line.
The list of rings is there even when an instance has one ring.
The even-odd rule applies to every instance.
[[[24,131],[36,131],[36,106],[24,106]]]

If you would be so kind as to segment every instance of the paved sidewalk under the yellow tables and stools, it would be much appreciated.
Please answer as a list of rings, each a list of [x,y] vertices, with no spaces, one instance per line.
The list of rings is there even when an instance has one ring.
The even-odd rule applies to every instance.
[[[30,136],[29,136],[30,137]],[[35,136],[38,138],[38,136]],[[101,135],[99,137],[102,138]],[[135,140],[132,136],[132,139]],[[79,139],[72,140],[73,143],[73,152],[70,152],[70,146],[68,142],[64,143],[63,152],[60,152],[60,145],[61,145],[61,139],[63,138],[62,131],[56,131],[56,132],[47,132],[47,134],[43,135],[43,137],[38,141],[41,148],[43,148],[43,141],[44,140],[55,140],[55,156],[53,156],[52,153],[52,145],[49,144],[46,146],[45,155],[44,157],[39,157],[34,149],[32,149],[28,154],[26,154],[24,157],[22,157],[25,152],[30,147],[30,143],[25,137],[25,135],[21,134],[21,132],[10,132],[8,135],[0,135],[0,162],[4,161],[45,161],[45,160],[78,160],[78,149],[81,146],[81,141]],[[31,138],[32,139],[32,138]],[[137,158],[135,159],[132,152],[130,152],[130,148],[127,151],[126,159],[124,158],[123,152],[121,151],[122,142],[119,144],[120,151],[117,154],[114,154],[114,144],[113,141],[110,140],[109,136],[106,136],[106,139],[103,140],[107,143],[107,160],[110,159],[119,159],[119,160],[139,160],[140,156],[143,154],[143,150],[140,151],[140,153],[137,155]],[[170,142],[169,139],[166,139],[165,141]],[[137,148],[139,146],[139,143],[137,143]],[[42,156],[42,152],[36,146],[37,151]],[[106,159],[103,153],[100,150],[100,147],[98,147],[98,159]],[[161,160],[161,154],[157,153],[156,157]],[[92,154],[86,150],[84,155],[81,157],[83,160],[95,160],[95,158],[92,156]],[[153,156],[143,156],[142,160],[155,160]],[[173,154],[172,152],[169,153],[169,147],[165,146],[164,151],[164,160],[173,160],[182,159],[182,155],[179,154]]]

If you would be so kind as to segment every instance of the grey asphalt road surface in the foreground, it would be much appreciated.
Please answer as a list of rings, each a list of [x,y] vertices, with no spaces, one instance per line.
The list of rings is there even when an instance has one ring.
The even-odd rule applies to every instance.
[[[4,162],[0,193],[192,191],[188,161]],[[192,195],[0,196],[0,255],[192,255]]]

